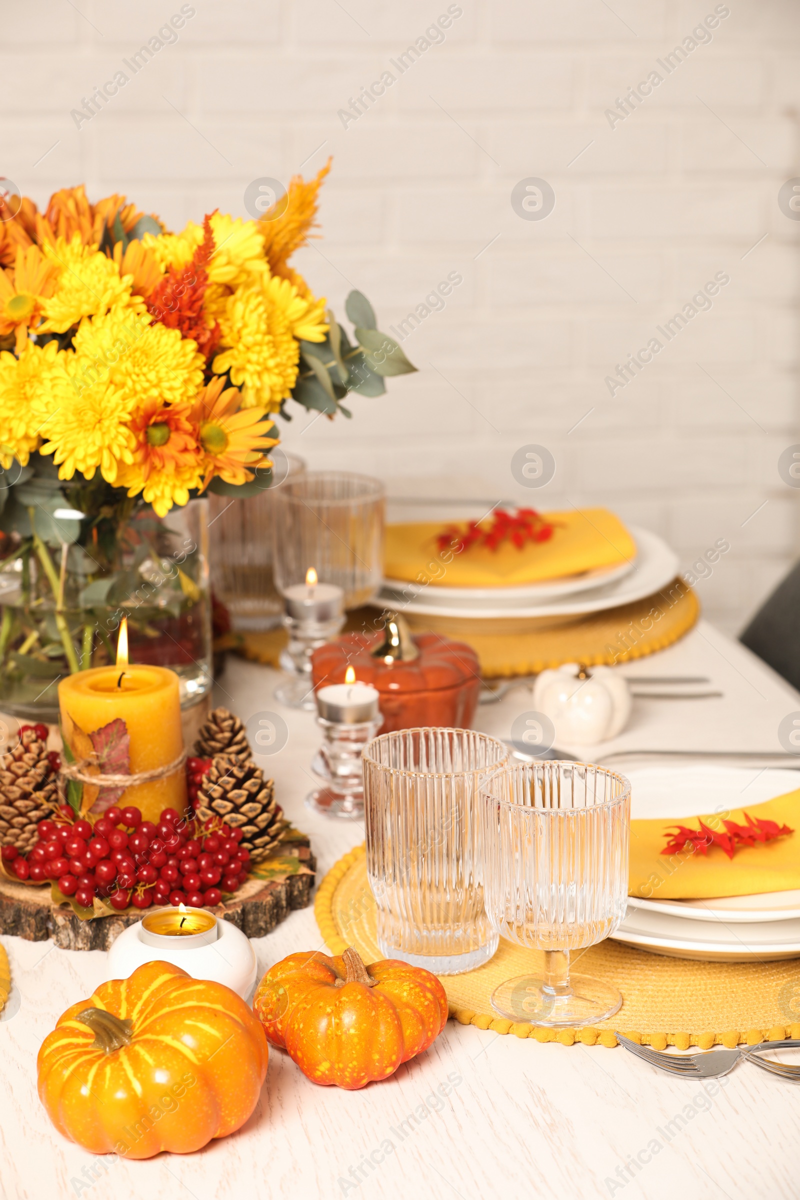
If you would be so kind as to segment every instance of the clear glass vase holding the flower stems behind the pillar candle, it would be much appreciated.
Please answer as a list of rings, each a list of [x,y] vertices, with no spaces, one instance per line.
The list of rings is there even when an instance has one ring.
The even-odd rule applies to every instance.
[[[28,514],[6,534],[0,562],[2,712],[56,721],[59,679],[114,662],[122,617],[131,662],[170,667],[181,704],[200,700],[212,682],[207,500],[164,517],[131,505],[113,523],[70,508]],[[60,541],[60,530],[73,540]]]

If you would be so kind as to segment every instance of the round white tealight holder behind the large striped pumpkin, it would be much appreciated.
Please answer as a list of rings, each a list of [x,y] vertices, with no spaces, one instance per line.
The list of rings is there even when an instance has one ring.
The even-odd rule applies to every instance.
[[[198,932],[180,935],[158,932],[164,922],[180,922],[186,916]],[[210,922],[209,922],[210,918]],[[150,928],[149,928],[150,926]],[[218,920],[207,908],[152,908],[142,920],[128,925],[108,952],[107,978],[127,979],[145,962],[172,962],[193,979],[223,983],[247,1000],[258,965],[249,938],[229,920]]]

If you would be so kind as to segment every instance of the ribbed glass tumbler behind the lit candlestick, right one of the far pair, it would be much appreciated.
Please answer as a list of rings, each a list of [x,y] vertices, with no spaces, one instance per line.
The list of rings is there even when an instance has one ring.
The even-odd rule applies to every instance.
[[[313,566],[320,583],[344,590],[357,608],[384,574],[384,485],[345,470],[307,472],[276,493],[275,583],[278,592],[305,583]]]

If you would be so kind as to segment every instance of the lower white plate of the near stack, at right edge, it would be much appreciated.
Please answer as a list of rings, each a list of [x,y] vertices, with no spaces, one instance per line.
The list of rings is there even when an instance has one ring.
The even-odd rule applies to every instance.
[[[686,920],[667,912],[628,906],[614,941],[652,950],[673,959],[711,962],[769,962],[800,955],[800,920],[751,922]]]

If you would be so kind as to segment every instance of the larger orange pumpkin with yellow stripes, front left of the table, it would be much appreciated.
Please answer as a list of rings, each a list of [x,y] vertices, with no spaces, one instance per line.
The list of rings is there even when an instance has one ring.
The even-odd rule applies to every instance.
[[[243,1126],[266,1076],[264,1030],[229,988],[145,962],[59,1018],[38,1094],[94,1154],[188,1154]]]

